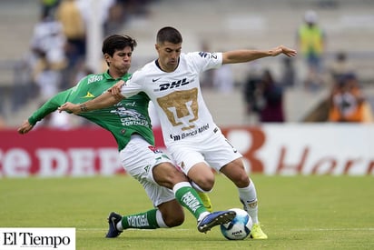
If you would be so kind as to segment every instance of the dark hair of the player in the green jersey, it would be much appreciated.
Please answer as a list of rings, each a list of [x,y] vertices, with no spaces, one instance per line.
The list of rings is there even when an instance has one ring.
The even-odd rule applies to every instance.
[[[137,45],[135,39],[129,35],[109,35],[103,40],[103,55],[113,56],[116,50],[122,50],[124,47],[130,46],[132,51]]]

